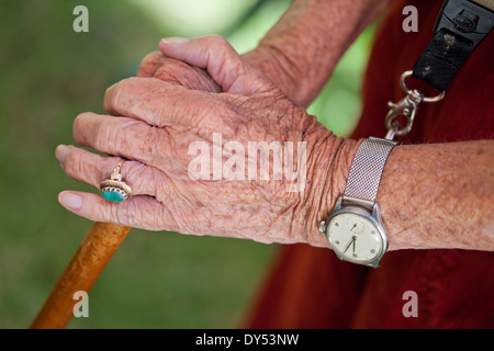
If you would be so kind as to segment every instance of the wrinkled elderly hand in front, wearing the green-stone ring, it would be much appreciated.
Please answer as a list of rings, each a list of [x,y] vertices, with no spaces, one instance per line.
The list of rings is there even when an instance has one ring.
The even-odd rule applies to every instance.
[[[126,159],[121,173],[133,197],[111,203],[67,191],[59,202],[97,222],[326,247],[317,223],[341,192],[355,143],[294,105],[221,37],[170,38],[160,49],[213,81],[190,67],[187,78],[171,79],[166,69],[167,81],[144,78],[154,68],[143,65],[142,77],[109,88],[112,115],[80,114],[74,136],[113,157],[72,146],[59,146],[56,156],[69,177],[94,186]],[[258,151],[262,145],[273,154]]]

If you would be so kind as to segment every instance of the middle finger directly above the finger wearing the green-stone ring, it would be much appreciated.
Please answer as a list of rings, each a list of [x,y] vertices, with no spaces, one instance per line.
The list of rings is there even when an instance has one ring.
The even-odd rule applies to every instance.
[[[74,138],[80,146],[155,167],[172,157],[167,129],[127,117],[81,113],[74,122]]]

